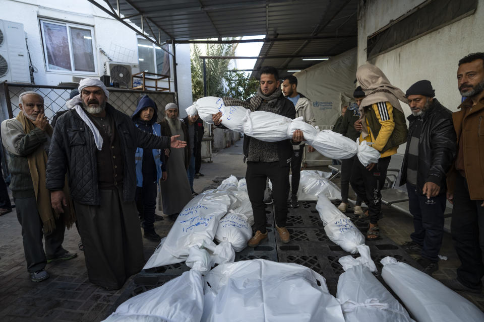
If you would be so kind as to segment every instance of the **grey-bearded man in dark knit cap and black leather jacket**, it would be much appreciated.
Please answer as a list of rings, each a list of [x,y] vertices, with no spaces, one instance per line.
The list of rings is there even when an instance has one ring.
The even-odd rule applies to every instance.
[[[434,98],[429,81],[410,86],[405,93],[412,115],[408,116],[408,139],[400,171],[406,183],[408,205],[415,231],[402,245],[408,253],[421,255],[417,262],[425,272],[439,269],[438,255],[444,233],[446,174],[456,153],[452,113]]]

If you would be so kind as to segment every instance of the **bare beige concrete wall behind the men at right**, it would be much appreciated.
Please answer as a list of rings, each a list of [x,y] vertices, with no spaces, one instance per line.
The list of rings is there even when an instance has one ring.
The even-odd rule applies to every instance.
[[[358,65],[367,61],[367,37],[407,13],[423,0],[360,0],[358,12]],[[436,98],[455,111],[461,96],[457,89],[457,63],[465,55],[484,51],[484,0],[476,12],[457,22],[376,56],[369,62],[380,67],[390,82],[405,92],[416,81],[428,79]],[[402,105],[406,116],[410,108]]]

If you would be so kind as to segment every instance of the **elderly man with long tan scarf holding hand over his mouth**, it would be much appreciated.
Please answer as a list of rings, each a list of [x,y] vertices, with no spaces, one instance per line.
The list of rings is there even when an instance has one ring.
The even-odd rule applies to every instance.
[[[40,282],[49,278],[46,263],[70,260],[76,253],[62,247],[66,226],[52,212],[49,192],[45,189],[45,160],[52,127],[44,115],[44,99],[38,93],[24,92],[19,96],[19,107],[17,117],[2,122],[2,143],[9,154],[10,189],[22,225],[27,271],[33,282]]]

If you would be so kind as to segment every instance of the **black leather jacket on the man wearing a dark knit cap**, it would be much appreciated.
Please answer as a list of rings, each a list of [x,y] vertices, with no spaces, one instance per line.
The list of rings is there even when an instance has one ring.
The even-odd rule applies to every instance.
[[[410,121],[407,142],[410,142],[415,122],[423,122],[418,139],[416,188],[421,194],[423,185],[426,182],[433,182],[440,186],[442,193],[447,189],[446,174],[449,172],[457,152],[452,112],[442,106],[437,99],[434,99],[420,116],[410,114],[407,119]],[[407,182],[409,145],[407,143],[403,156],[400,185]]]

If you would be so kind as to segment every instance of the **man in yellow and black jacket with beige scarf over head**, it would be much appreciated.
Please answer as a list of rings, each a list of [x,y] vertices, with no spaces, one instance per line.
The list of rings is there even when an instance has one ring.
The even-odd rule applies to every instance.
[[[385,183],[390,158],[397,152],[398,146],[407,140],[405,115],[398,102],[407,100],[404,93],[391,85],[385,74],[374,65],[358,67],[356,78],[366,97],[360,105],[361,118],[354,123],[354,128],[361,132],[359,140],[371,142],[381,156],[378,163],[367,167],[359,162],[353,164],[351,187],[368,205],[368,214],[360,217],[370,219],[367,239],[374,240],[379,238],[380,191]]]

